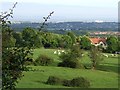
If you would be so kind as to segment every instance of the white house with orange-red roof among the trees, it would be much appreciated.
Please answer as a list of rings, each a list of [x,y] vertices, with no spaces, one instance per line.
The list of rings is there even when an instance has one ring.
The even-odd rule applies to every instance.
[[[103,48],[106,49],[107,44],[106,44],[106,39],[105,38],[90,38],[91,44],[95,46],[102,46]]]

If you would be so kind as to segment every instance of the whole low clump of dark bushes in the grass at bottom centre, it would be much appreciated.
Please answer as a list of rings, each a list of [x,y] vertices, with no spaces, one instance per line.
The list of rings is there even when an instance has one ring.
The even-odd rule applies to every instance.
[[[90,82],[83,77],[77,77],[77,78],[73,78],[72,80],[66,80],[55,76],[49,76],[46,84],[63,85],[68,87],[82,87],[82,88],[90,87]]]

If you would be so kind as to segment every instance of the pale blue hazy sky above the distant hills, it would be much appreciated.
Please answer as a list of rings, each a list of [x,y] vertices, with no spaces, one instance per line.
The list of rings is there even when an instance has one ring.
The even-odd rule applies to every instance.
[[[1,0],[0,12],[16,1],[13,21],[42,22],[52,11],[49,22],[118,21],[119,0]]]

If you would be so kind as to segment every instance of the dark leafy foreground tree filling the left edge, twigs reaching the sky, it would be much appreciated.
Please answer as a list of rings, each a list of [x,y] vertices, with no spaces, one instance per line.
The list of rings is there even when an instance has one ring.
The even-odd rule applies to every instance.
[[[12,17],[14,4],[10,12],[3,12],[0,15],[0,23],[2,24],[2,89],[14,90],[18,78],[22,77],[23,70],[27,67],[24,63],[29,60],[31,55],[30,48],[14,47],[15,39],[13,38],[13,30],[11,30],[8,19]]]

